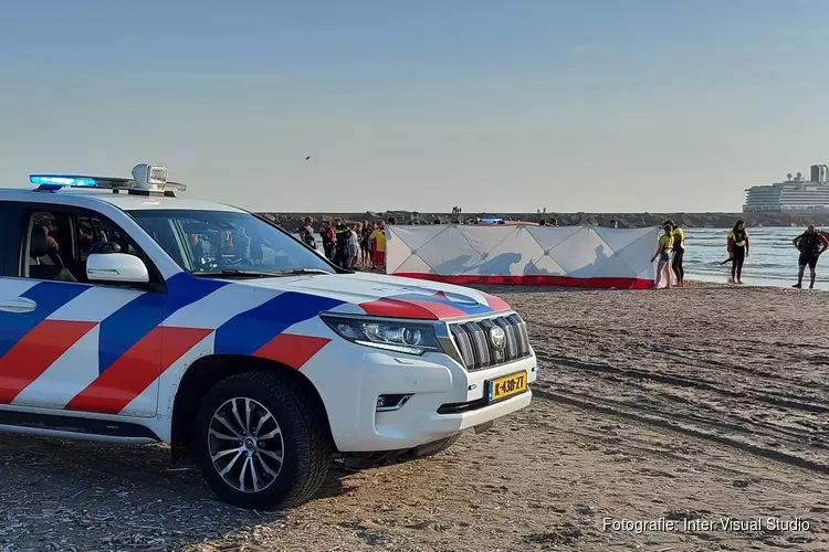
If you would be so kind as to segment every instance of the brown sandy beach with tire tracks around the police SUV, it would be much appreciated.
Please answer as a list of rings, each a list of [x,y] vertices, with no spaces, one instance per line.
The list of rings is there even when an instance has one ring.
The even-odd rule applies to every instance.
[[[218,502],[159,446],[4,435],[0,550],[829,550],[829,295],[486,291],[542,364],[493,431],[287,512]]]

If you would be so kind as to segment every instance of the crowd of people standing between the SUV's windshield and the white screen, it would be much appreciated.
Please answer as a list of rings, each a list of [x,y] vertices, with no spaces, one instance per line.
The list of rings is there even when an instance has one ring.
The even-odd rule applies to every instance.
[[[385,272],[386,268],[386,225],[397,224],[393,216],[386,221],[347,223],[343,219],[323,221],[319,229],[323,253],[335,265],[349,270],[364,269]],[[314,227],[309,216],[305,217],[300,238],[317,248]]]

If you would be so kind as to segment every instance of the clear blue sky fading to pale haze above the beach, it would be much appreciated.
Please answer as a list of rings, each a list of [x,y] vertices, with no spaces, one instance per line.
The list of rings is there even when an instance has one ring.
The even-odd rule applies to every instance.
[[[825,0],[9,0],[0,185],[155,162],[255,211],[739,211],[829,163],[827,21]]]

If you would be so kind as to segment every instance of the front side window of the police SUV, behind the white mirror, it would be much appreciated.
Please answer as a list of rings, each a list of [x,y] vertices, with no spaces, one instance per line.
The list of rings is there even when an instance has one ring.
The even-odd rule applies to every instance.
[[[104,216],[69,210],[30,210],[23,220],[21,277],[88,283],[86,259],[92,253],[127,253],[145,264],[149,262],[135,242]]]

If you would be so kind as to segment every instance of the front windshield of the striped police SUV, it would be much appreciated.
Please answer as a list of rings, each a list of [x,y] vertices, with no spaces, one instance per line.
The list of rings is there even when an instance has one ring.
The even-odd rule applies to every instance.
[[[335,273],[319,255],[250,213],[161,209],[129,215],[181,268],[197,276]]]

